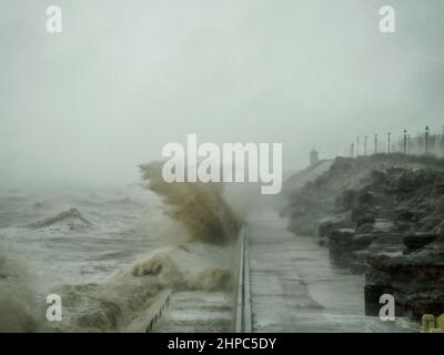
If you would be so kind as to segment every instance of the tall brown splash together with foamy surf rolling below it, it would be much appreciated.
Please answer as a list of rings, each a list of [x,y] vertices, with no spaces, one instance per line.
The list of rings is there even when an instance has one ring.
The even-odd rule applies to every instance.
[[[103,283],[62,285],[61,332],[144,332],[167,292],[230,292],[231,255],[240,222],[219,183],[165,183],[159,163],[143,165],[147,187],[163,199],[168,224],[180,223],[191,240],[152,251]],[[151,211],[153,212],[153,211]],[[169,222],[169,223],[168,223]],[[153,237],[152,230],[147,231]]]

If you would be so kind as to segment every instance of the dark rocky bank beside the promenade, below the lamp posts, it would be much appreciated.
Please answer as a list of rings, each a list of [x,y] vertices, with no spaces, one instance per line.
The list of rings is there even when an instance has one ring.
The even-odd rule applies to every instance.
[[[296,206],[286,212],[290,230],[317,229],[334,262],[365,273],[367,314],[379,311],[383,293],[395,297],[398,315],[444,312],[440,166],[390,164],[387,156],[337,159],[290,201]]]

